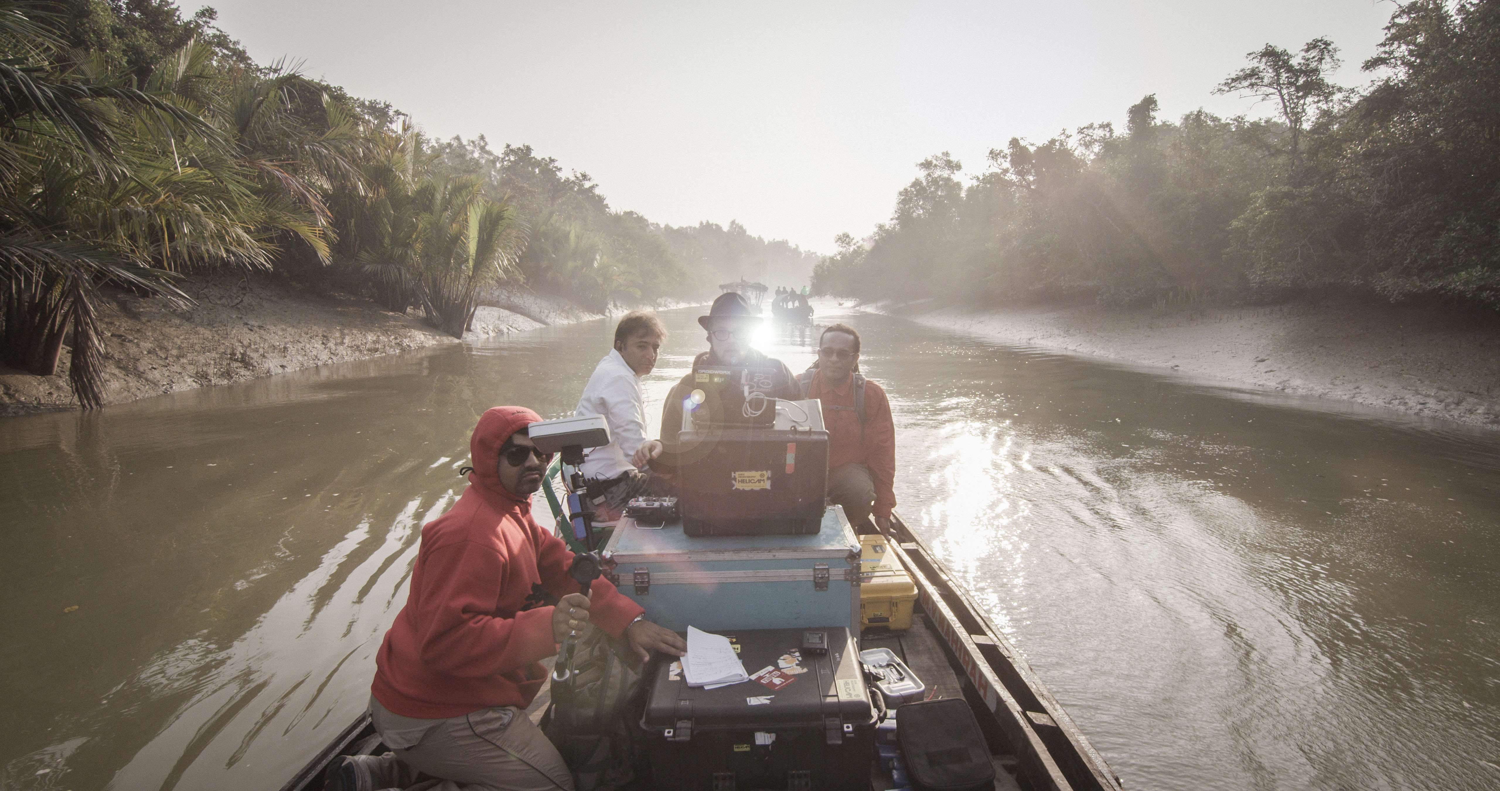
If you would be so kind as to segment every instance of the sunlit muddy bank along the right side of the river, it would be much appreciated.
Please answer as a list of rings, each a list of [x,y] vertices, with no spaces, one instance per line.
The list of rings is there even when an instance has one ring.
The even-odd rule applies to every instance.
[[[862,308],[1005,344],[1500,428],[1496,315],[1338,300],[1191,311],[972,312],[930,300]]]

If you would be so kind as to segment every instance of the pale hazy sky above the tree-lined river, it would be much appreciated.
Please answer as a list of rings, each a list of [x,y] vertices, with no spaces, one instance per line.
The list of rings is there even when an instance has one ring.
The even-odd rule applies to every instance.
[[[194,12],[194,0],[178,0]],[[718,3],[218,0],[258,62],[384,99],[430,135],[531,144],[656,222],[742,222],[830,252],[890,218],[915,164],[968,173],[1011,137],[1161,117],[1274,42],[1326,36],[1364,84],[1395,6],[1376,0]]]

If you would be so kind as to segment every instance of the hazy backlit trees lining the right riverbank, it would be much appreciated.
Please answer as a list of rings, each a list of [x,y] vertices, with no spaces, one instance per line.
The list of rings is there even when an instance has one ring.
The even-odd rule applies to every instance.
[[[1112,305],[1246,302],[1310,293],[1443,299],[1500,309],[1500,0],[1416,0],[1364,65],[1330,81],[1312,39],[1246,56],[1222,93],[1269,117],[1194,111],[1126,129],[1012,138],[963,177],[918,164],[891,219],[838,237],[814,290],[880,297]]]

